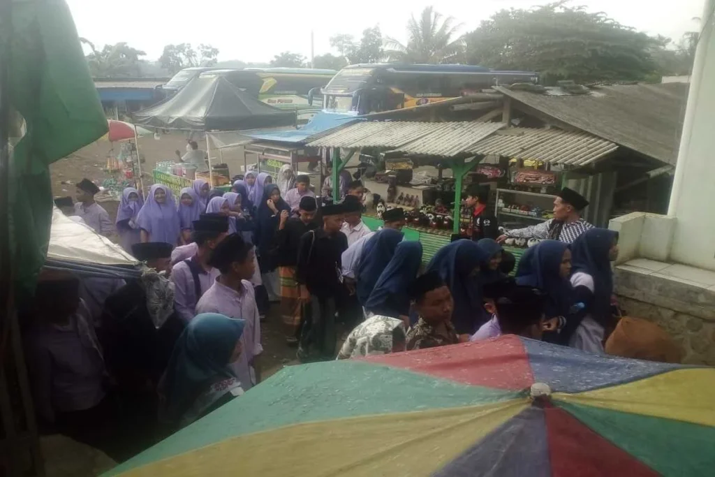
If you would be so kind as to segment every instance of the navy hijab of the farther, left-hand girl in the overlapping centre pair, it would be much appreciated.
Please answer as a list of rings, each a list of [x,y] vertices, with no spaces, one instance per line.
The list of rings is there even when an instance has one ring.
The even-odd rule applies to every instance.
[[[368,303],[370,293],[375,289],[375,284],[377,284],[380,274],[388,266],[390,260],[393,259],[395,249],[402,242],[403,237],[403,232],[399,230],[383,229],[365,243],[365,249],[363,250],[356,276],[358,284],[355,286],[360,305],[365,306]]]

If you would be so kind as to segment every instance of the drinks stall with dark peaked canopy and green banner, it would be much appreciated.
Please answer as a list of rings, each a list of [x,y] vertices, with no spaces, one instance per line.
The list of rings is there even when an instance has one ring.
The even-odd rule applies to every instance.
[[[134,113],[134,119],[144,127],[205,134],[207,174],[196,172],[189,164],[180,162],[161,162],[154,171],[154,180],[172,189],[177,183],[190,184],[199,177],[207,180],[212,187],[230,186],[231,173],[226,164],[214,164],[212,161],[211,132],[295,126],[295,112],[260,102],[220,76],[194,78],[174,97]]]

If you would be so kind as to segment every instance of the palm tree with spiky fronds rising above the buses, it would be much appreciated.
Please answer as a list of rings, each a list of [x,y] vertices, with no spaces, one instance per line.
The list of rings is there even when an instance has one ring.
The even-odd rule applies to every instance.
[[[408,21],[408,42],[388,37],[385,56],[390,62],[449,63],[458,61],[463,53],[463,36],[457,35],[461,24],[452,16],[444,18],[432,6],[425,7],[419,19]]]

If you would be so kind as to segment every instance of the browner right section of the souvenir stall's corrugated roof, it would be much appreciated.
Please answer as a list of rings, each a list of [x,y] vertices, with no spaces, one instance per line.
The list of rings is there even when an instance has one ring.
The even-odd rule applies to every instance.
[[[513,127],[495,132],[468,147],[469,154],[498,154],[514,159],[537,159],[552,164],[585,166],[618,149],[618,144],[588,134],[561,129]]]

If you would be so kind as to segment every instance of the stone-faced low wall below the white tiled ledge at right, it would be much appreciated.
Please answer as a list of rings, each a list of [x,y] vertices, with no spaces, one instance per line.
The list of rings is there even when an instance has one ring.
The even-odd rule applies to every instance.
[[[652,320],[673,336],[683,363],[715,366],[715,290],[634,267],[616,267],[618,303],[627,315]]]

